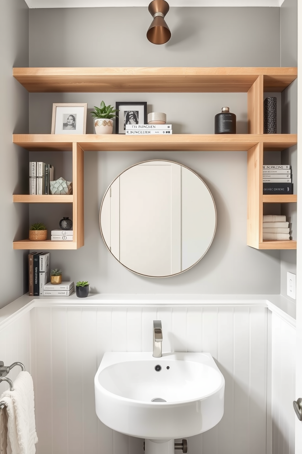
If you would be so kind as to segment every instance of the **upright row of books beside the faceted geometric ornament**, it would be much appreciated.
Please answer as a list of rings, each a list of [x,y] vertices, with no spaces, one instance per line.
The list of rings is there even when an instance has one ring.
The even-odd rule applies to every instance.
[[[42,162],[29,163],[29,194],[50,194],[50,181],[53,181],[53,166]]]

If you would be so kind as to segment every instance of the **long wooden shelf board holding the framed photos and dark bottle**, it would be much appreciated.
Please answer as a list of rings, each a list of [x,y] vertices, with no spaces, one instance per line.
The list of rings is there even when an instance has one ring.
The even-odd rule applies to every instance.
[[[29,151],[247,151],[263,142],[264,150],[281,151],[297,143],[297,134],[14,134],[13,142]]]

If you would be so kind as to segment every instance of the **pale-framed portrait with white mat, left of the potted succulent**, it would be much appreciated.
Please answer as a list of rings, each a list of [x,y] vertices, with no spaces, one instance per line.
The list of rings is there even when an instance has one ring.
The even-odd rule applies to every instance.
[[[86,134],[87,103],[54,103],[52,134]]]

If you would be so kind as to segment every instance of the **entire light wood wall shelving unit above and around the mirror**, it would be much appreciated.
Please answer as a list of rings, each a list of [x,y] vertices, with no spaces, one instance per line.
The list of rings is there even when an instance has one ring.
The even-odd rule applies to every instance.
[[[77,249],[84,245],[84,151],[245,151],[248,158],[247,244],[257,249],[296,249],[296,241],[263,241],[263,203],[297,202],[296,195],[263,195],[264,151],[297,144],[297,134],[264,134],[264,92],[281,92],[297,68],[14,68],[29,92],[247,93],[248,134],[112,135],[14,134],[29,151],[72,151],[72,196],[14,195],[14,202],[72,203],[73,242],[14,242],[14,249]],[[33,198],[34,197],[34,198]],[[67,198],[68,197],[68,198]]]

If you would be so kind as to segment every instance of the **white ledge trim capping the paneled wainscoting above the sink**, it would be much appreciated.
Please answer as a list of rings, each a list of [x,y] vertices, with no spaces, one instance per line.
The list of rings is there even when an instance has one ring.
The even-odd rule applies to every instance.
[[[0,309],[0,329],[34,307],[267,307],[296,327],[295,303],[281,295],[99,295],[84,300],[73,293],[65,298],[23,295]]]

